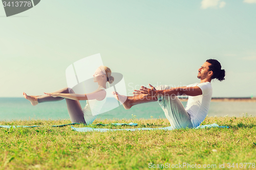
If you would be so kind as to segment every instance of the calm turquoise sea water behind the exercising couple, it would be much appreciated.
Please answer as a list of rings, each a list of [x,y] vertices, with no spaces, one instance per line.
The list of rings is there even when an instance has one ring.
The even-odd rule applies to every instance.
[[[80,101],[81,107],[86,106],[86,101]],[[186,102],[182,102],[185,106]],[[244,114],[243,114],[244,113]],[[208,116],[243,116],[245,114],[256,116],[255,102],[211,102]],[[111,111],[99,114],[100,119],[130,119],[132,114],[136,118],[165,118],[164,112],[158,102],[145,103],[125,110],[119,106]],[[58,102],[40,103],[32,106],[24,98],[0,98],[0,120],[19,119],[69,119],[66,100]]]

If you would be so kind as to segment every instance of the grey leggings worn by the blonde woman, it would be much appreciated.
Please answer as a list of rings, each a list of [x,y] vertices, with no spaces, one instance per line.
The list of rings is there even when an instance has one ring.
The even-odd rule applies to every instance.
[[[75,92],[71,88],[65,87],[60,90],[54,91],[53,93],[75,93]],[[63,99],[65,98],[62,98],[62,97],[54,98],[50,95],[40,95],[37,97],[38,103],[61,101]],[[71,122],[86,124],[86,120],[84,120],[82,108],[79,101],[66,99],[66,102],[67,102],[68,112],[69,112]]]

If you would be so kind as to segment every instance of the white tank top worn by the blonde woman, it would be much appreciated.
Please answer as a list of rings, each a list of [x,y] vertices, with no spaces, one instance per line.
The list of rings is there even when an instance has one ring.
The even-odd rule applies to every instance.
[[[105,90],[105,88],[100,88],[100,89]],[[105,104],[105,102],[106,102],[106,97],[101,101],[98,101],[97,99],[88,100],[86,107],[84,107],[82,109],[82,111],[86,112],[86,115],[88,115],[88,116],[89,115],[97,115],[100,113],[100,110],[101,110],[102,106]]]

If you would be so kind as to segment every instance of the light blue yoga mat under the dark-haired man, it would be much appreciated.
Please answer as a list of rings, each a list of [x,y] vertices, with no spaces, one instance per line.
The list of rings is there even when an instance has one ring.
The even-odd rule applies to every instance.
[[[219,127],[219,128],[229,128],[228,126],[219,126],[217,124],[211,124],[211,125],[201,125],[194,129],[203,129],[203,128],[213,128],[213,127]],[[75,128],[71,126],[71,129],[77,132],[109,132],[109,131],[142,131],[142,130],[174,130],[171,126],[164,127],[164,128],[135,128],[135,129],[102,129],[102,128]]]

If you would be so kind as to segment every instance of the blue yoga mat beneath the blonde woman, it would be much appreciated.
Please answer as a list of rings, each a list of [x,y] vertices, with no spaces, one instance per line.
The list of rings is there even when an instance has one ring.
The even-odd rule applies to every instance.
[[[53,125],[51,127],[63,127],[63,126],[68,126],[68,125],[76,125],[78,123],[73,123],[73,124],[65,124],[65,125]],[[96,124],[96,125],[92,125],[92,126],[107,126],[109,124]],[[114,123],[114,124],[111,124],[111,125],[114,125],[114,126],[122,126],[122,125],[127,125],[127,126],[137,126],[138,124],[135,124],[135,123],[130,123],[130,124],[121,124],[121,123]],[[0,125],[0,128],[34,128],[34,127],[44,127],[44,126],[10,126],[10,125]]]

